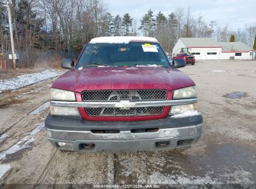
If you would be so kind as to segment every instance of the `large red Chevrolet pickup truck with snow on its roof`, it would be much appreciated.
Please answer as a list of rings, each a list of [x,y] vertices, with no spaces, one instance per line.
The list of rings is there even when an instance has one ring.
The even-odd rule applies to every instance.
[[[60,150],[178,149],[201,137],[194,81],[158,40],[99,37],[52,85],[47,137]]]

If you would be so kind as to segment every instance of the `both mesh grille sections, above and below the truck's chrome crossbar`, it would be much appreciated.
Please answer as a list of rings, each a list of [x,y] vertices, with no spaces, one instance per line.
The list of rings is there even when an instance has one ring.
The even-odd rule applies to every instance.
[[[83,91],[83,101],[154,101],[166,99],[166,90],[100,90]],[[143,108],[85,108],[88,116],[94,117],[131,117],[154,116],[162,114],[164,106]]]

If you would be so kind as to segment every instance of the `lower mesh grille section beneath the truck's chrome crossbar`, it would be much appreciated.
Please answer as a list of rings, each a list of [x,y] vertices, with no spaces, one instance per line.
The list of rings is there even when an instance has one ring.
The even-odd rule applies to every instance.
[[[97,117],[130,117],[130,116],[153,116],[163,113],[164,106],[148,108],[85,108],[88,116]]]

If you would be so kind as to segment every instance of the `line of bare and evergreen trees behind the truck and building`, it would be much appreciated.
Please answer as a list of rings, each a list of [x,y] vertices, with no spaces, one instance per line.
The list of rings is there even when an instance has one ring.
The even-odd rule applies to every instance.
[[[149,10],[138,21],[128,12],[112,15],[103,0],[11,0],[14,42],[17,51],[80,52],[93,37],[144,35],[156,37],[171,52],[180,37],[212,37],[218,42],[235,41],[253,47],[256,25],[230,30],[216,21],[192,16],[191,9],[177,8],[168,15]],[[228,22],[228,21],[227,21]],[[1,50],[10,50],[6,7],[0,5]]]

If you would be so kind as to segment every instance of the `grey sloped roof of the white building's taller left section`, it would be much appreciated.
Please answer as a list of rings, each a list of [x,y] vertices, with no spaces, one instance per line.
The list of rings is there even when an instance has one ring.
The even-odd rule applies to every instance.
[[[211,38],[189,37],[180,38],[186,47],[221,47],[219,43]]]

